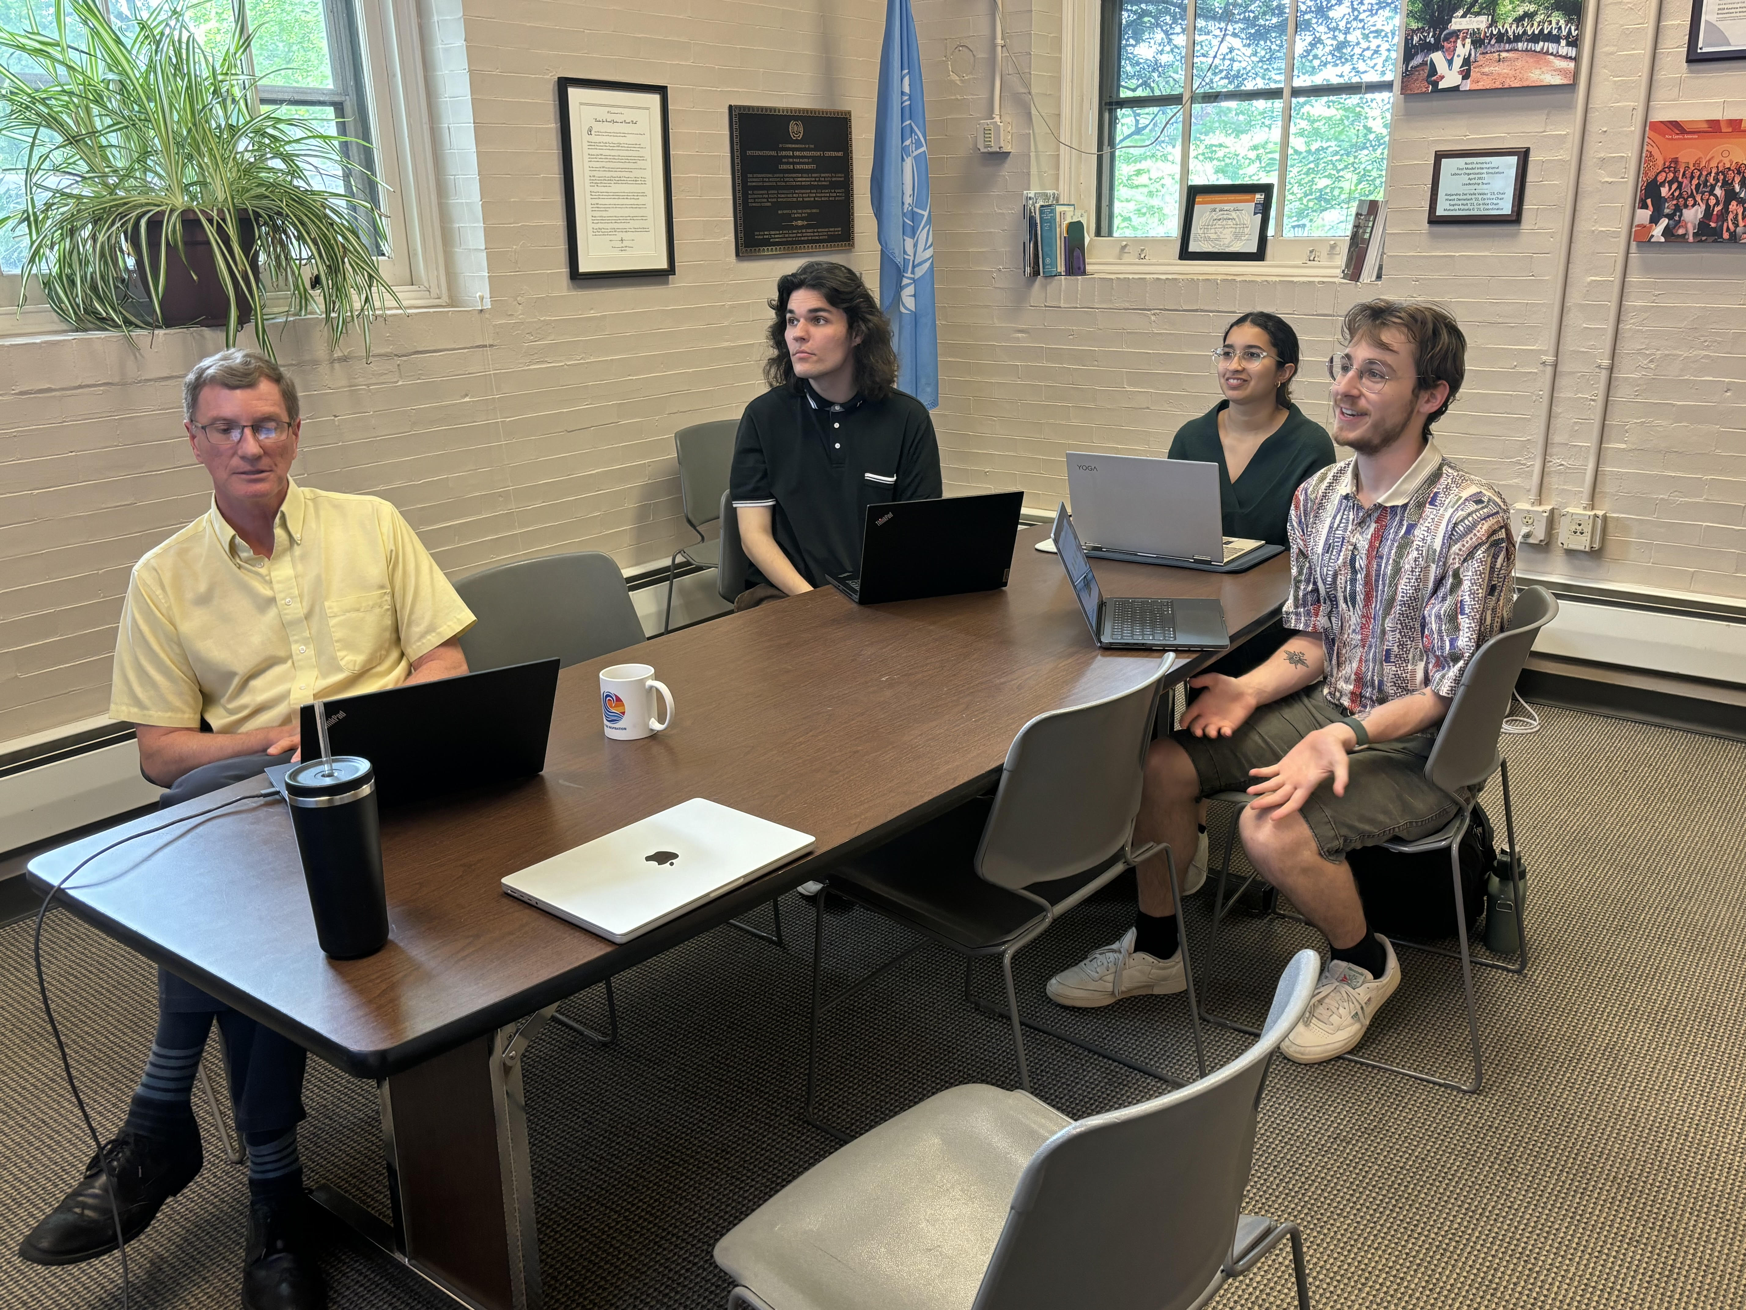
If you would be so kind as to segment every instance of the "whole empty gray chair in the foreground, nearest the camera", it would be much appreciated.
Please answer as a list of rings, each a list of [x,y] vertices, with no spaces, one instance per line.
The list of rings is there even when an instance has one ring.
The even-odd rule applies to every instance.
[[[1198,1310],[1294,1223],[1241,1214],[1268,1064],[1315,992],[1285,966],[1261,1039],[1215,1074],[1074,1123],[955,1086],[819,1162],[716,1244],[751,1310]]]

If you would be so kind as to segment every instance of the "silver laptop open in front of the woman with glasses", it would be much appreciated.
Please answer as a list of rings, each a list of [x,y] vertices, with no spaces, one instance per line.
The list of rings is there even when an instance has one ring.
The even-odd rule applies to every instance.
[[[1131,454],[1067,454],[1074,527],[1095,559],[1247,568],[1278,554],[1266,541],[1226,536],[1219,465]]]

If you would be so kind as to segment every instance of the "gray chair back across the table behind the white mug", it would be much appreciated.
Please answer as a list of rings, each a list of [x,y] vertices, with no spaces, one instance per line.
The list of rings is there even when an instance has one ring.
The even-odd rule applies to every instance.
[[[567,669],[644,639],[625,575],[599,550],[498,564],[454,589],[478,617],[461,636],[475,672],[553,655]]]

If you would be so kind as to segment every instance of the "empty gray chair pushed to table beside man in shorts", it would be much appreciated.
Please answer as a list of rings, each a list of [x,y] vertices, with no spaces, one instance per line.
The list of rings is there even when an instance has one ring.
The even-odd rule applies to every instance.
[[[1133,821],[1140,810],[1145,749],[1151,744],[1158,693],[1173,657],[1159,660],[1138,686],[1103,700],[1039,714],[1020,728],[1006,755],[999,788],[831,872],[829,894],[847,896],[918,934],[913,947],[822,999],[824,894],[815,905],[812,950],[812,1032],[807,1048],[807,1120],[835,1137],[842,1132],[814,1114],[817,1092],[819,1017],[854,990],[929,941],[966,957],[966,999],[1013,1025],[1020,1086],[1030,1090],[1025,1065],[1025,1029],[1048,1032],[1151,1078],[1180,1085],[1158,1069],[1095,1046],[1053,1025],[1025,1020],[1013,987],[1013,955],[1035,941],[1062,914],[1109,884],[1131,865],[1166,856],[1172,887],[1177,880],[1170,849],[1133,847]],[[1048,884],[1046,900],[1032,887]],[[971,966],[978,955],[997,955],[1006,982],[1006,1008],[976,1003]],[[1182,962],[1189,966],[1187,940]],[[1194,975],[1189,973],[1189,1018],[1201,1074]]]

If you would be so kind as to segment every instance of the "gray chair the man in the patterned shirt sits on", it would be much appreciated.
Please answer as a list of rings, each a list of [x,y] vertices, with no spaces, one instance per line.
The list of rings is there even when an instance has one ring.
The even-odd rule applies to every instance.
[[[1493,774],[1498,776],[1500,789],[1503,793],[1503,830],[1510,849],[1510,882],[1516,896],[1516,962],[1505,964],[1500,961],[1474,959],[1467,943],[1467,903],[1461,894],[1461,837],[1467,835],[1467,826],[1472,819],[1472,805],[1463,807],[1460,814],[1449,819],[1440,831],[1435,831],[1430,837],[1421,837],[1416,842],[1383,842],[1385,851],[1395,851],[1397,854],[1423,854],[1430,851],[1449,852],[1449,872],[1454,877],[1454,929],[1460,940],[1460,950],[1446,950],[1421,941],[1395,941],[1393,938],[1390,938],[1390,941],[1397,947],[1406,947],[1407,950],[1461,961],[1461,989],[1467,996],[1467,1036],[1474,1048],[1474,1078],[1468,1083],[1456,1083],[1451,1078],[1437,1078],[1435,1074],[1418,1069],[1351,1053],[1341,1055],[1341,1060],[1367,1064],[1372,1069],[1386,1069],[1395,1074],[1416,1078],[1421,1083],[1449,1086],[1456,1092],[1479,1092],[1484,1085],[1484,1060],[1479,1053],[1479,1010],[1474,1003],[1474,966],[1477,964],[1481,968],[1502,969],[1505,973],[1528,971],[1528,927],[1523,922],[1523,861],[1521,847],[1516,844],[1516,809],[1510,802],[1510,765],[1503,758],[1500,739],[1503,732],[1503,718],[1510,711],[1510,697],[1516,693],[1516,679],[1521,678],[1523,665],[1528,662],[1528,652],[1533,650],[1533,643],[1535,638],[1540,636],[1540,629],[1554,618],[1557,618],[1557,601],[1552,599],[1552,594],[1545,587],[1526,587],[1516,594],[1516,604],[1510,610],[1509,625],[1474,653],[1472,662],[1467,665],[1467,672],[1461,676],[1461,685],[1454,688],[1454,700],[1449,702],[1449,713],[1444,716],[1442,727],[1437,728],[1437,742],[1432,746],[1430,756],[1425,760],[1425,777],[1449,793],[1470,789],[1475,802],[1479,800],[1479,789],[1491,779]],[[1213,796],[1213,800],[1224,800],[1241,809],[1248,805],[1250,796],[1247,791],[1220,791]],[[1233,823],[1231,835],[1226,838],[1224,865],[1219,868],[1217,896],[1213,900],[1215,934],[1219,920],[1224,917],[1227,908],[1224,886],[1231,868],[1231,845],[1234,840],[1236,824]],[[1248,887],[1255,877],[1255,873],[1250,873],[1248,879],[1243,880],[1243,887],[1238,887],[1231,900],[1241,896],[1243,889]],[[1229,1020],[1212,1013],[1206,1015],[1206,1020],[1222,1027],[1234,1027],[1241,1032],[1254,1032],[1254,1029],[1231,1024]]]

